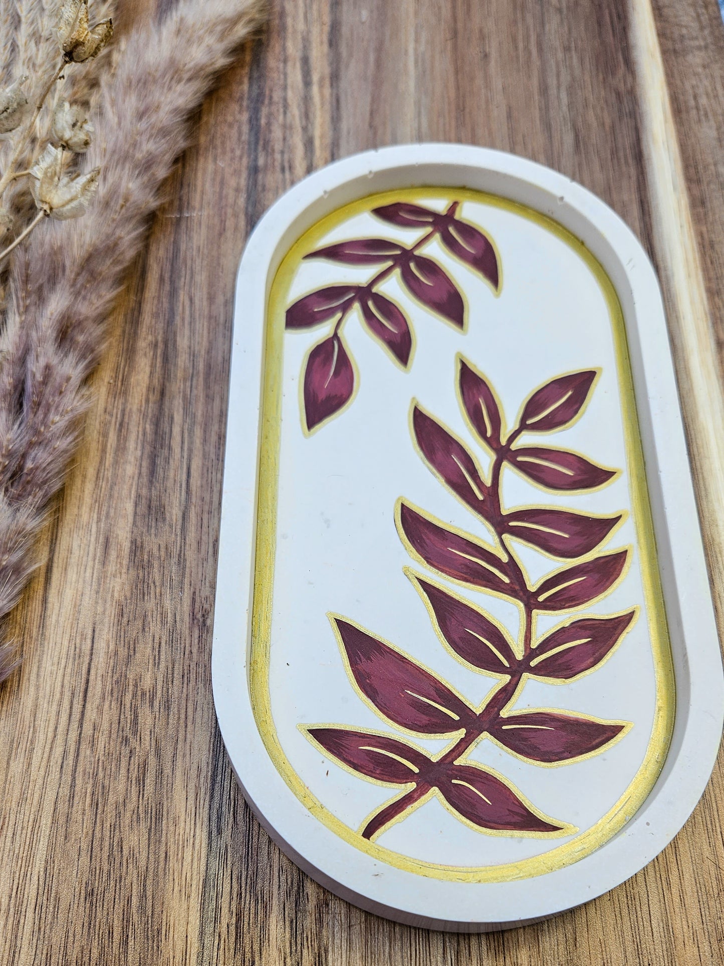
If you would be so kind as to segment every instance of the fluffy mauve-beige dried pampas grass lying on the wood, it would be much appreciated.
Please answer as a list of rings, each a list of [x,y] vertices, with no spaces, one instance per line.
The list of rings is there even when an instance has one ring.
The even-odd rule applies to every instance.
[[[47,10],[39,0],[0,0],[0,23],[18,11],[21,23],[26,11],[46,23]],[[263,0],[182,0],[159,24],[130,33],[122,52],[111,53],[112,67],[97,74],[85,68],[80,85],[95,103],[97,133],[83,170],[102,167],[96,197],[76,221],[45,219],[14,250],[8,269],[0,337],[0,621],[36,562],[35,539],[78,438],[105,322],[186,143],[186,121],[263,15]],[[41,29],[30,22],[24,30]],[[21,59],[21,47],[7,36],[0,43],[14,58]],[[0,642],[0,680],[17,664],[14,642]]]

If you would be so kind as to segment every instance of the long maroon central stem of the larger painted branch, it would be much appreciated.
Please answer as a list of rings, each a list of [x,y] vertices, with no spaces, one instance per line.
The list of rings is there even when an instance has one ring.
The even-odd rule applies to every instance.
[[[508,680],[490,697],[490,700],[487,702],[485,708],[483,708],[483,710],[479,713],[475,727],[468,728],[455,743],[455,745],[445,752],[441,758],[438,758],[436,762],[438,765],[453,764],[461,755],[466,753],[476,741],[483,737],[490,725],[492,725],[492,723],[499,717],[500,713],[505,709],[506,705],[515,697],[515,692],[518,689],[518,685],[520,684],[523,674],[528,667],[528,655],[531,651],[533,637],[533,607],[530,601],[530,588],[525,581],[525,575],[523,574],[520,565],[515,558],[515,554],[513,554],[503,543],[503,534],[501,532],[501,470],[505,463],[505,457],[508,451],[518,436],[520,436],[521,432],[522,429],[519,426],[516,427],[506,440],[505,444],[495,454],[495,459],[490,472],[489,487],[489,494],[492,497],[494,513],[492,514],[492,519],[488,520],[487,522],[495,531],[498,545],[508,557],[507,563],[514,569],[518,592],[520,595],[520,604],[523,608],[523,653],[518,659],[515,667],[511,668],[511,673]],[[390,822],[394,821],[396,818],[399,818],[408,809],[411,809],[412,806],[415,805],[416,802],[419,802],[419,800],[425,795],[427,795],[433,787],[434,784],[428,781],[418,781],[415,787],[411,788],[406,795],[403,795],[402,798],[398,798],[395,801],[390,802],[389,805],[384,806],[375,815],[373,815],[365,828],[362,830],[362,838],[373,838],[376,836],[376,834],[381,832],[387,825],[390,824]]]

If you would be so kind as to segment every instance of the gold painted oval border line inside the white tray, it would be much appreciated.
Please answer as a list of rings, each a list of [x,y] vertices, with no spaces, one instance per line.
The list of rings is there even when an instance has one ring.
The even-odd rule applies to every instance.
[[[447,196],[449,200],[474,201],[526,218],[564,241],[584,261],[599,282],[611,318],[618,367],[624,433],[627,450],[627,473],[631,499],[631,516],[636,532],[641,579],[646,601],[647,619],[654,659],[656,702],[654,725],[646,755],[627,790],[599,821],[587,831],[542,855],[497,866],[444,866],[407,856],[362,838],[341,819],[327,810],[299,779],[279,741],[271,713],[268,668],[272,620],[274,555],[276,551],[276,504],[281,445],[281,382],[284,359],[284,321],[287,295],[301,256],[316,247],[332,228],[349,217],[369,212],[376,205],[392,200],[421,201]],[[252,607],[252,639],[249,663],[249,689],[252,710],[265,748],[275,767],[299,801],[320,822],[348,844],[360,849],[376,861],[432,878],[457,882],[511,882],[531,878],[571,865],[600,848],[613,838],[628,819],[641,808],[654,787],[668,752],[675,714],[675,682],[671,662],[666,613],[657,566],[654,527],[646,483],[633,381],[627,349],[626,324],[619,299],[605,271],[586,246],[553,219],[509,201],[481,191],[453,188],[415,188],[387,191],[362,198],[322,218],[297,241],[284,258],[274,278],[265,316],[264,391],[262,414],[262,449],[257,511],[257,549]]]

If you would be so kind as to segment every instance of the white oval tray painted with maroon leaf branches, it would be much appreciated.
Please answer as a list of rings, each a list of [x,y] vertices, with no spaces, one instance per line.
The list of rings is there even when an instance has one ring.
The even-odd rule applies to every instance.
[[[618,885],[722,669],[658,285],[519,157],[348,157],[238,273],[213,641],[238,781],[320,883],[485,930]]]

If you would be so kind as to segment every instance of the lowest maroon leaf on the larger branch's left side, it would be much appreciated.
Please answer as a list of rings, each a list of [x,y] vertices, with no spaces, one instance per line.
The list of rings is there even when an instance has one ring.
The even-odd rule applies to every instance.
[[[430,767],[430,759],[406,742],[343,727],[311,727],[324,751],[348,768],[376,781],[407,784]]]

